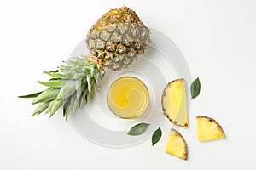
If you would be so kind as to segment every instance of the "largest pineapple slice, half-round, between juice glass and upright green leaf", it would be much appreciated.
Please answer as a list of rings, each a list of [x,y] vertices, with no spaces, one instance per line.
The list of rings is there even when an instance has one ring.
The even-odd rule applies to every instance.
[[[162,94],[162,109],[168,119],[181,127],[188,127],[186,82],[177,79],[169,82]]]

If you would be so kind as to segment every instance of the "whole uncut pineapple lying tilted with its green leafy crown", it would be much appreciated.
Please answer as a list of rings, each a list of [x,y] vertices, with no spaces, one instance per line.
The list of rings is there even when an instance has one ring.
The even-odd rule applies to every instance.
[[[44,71],[51,79],[39,82],[48,87],[42,92],[19,96],[34,98],[39,104],[32,116],[46,111],[53,116],[63,106],[63,116],[87,103],[99,88],[104,69],[119,71],[144,53],[150,31],[137,14],[127,7],[110,10],[88,31],[86,45],[90,54],[68,59],[57,71]]]

